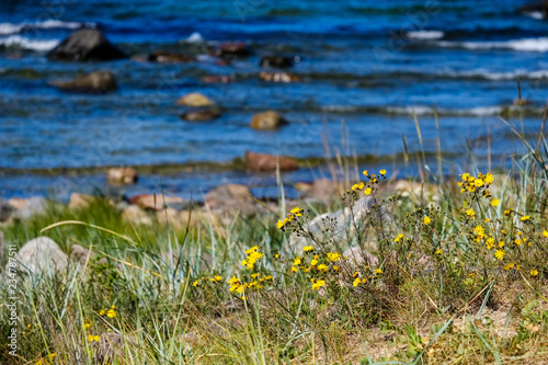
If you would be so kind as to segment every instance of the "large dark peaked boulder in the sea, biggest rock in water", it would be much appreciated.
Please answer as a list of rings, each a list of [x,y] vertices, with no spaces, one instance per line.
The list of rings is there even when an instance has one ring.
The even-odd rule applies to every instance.
[[[89,61],[127,58],[127,55],[106,39],[103,32],[94,28],[80,28],[47,54],[50,60]]]

